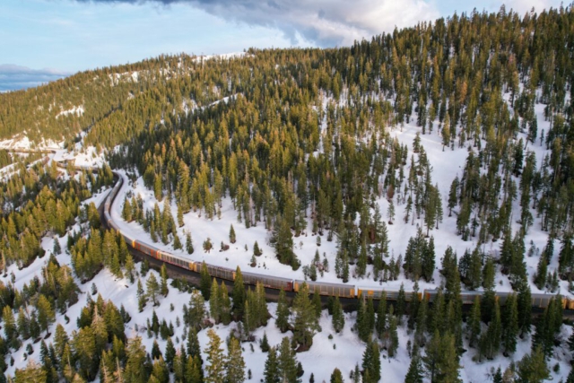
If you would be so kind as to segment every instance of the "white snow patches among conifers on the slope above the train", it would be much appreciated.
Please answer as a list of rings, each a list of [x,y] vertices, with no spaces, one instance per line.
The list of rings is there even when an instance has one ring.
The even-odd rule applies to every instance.
[[[505,95],[508,99],[508,95]],[[323,105],[326,108],[326,102]],[[544,121],[544,105],[537,104],[535,106],[536,116],[538,118],[538,128],[542,131],[544,129],[546,132],[550,127],[548,121]],[[435,254],[436,254],[436,269],[433,275],[434,281],[427,283],[423,280],[419,281],[420,288],[435,288],[440,285],[442,278],[439,274],[439,267],[441,263],[441,258],[444,255],[445,250],[448,246],[452,247],[456,252],[458,257],[462,257],[466,249],[473,250],[476,247],[476,238],[470,238],[465,241],[457,235],[457,209],[455,208],[452,216],[448,217],[448,192],[450,189],[450,184],[455,177],[461,178],[463,175],[463,170],[465,166],[465,160],[468,156],[468,143],[465,147],[459,148],[455,145],[455,149],[445,148],[443,151],[443,145],[441,142],[441,136],[439,135],[439,121],[435,121],[434,129],[431,134],[421,135],[421,144],[424,151],[427,153],[428,159],[431,163],[432,171],[432,182],[433,184],[438,184],[440,196],[442,198],[442,205],[444,210],[443,222],[439,224],[439,230],[433,229],[430,234],[434,237],[435,243]],[[417,132],[421,132],[421,128],[416,126],[416,118],[413,116],[410,123],[404,124],[404,126],[394,126],[390,130],[391,138],[396,138],[400,144],[406,144],[409,148],[409,157],[413,153],[413,139],[415,138]],[[526,142],[526,134],[520,133],[518,139],[522,138]],[[483,147],[485,143],[483,142]],[[475,148],[473,148],[476,151]],[[548,152],[545,146],[541,146],[539,142],[536,144],[528,144],[528,151],[534,151],[536,154],[536,160],[538,165],[543,161],[544,155]],[[525,152],[526,157],[526,152]],[[407,168],[410,166],[410,159],[407,161]],[[120,170],[121,172],[121,170]],[[405,170],[407,173],[408,170]],[[124,177],[126,178],[125,173]],[[514,178],[518,183],[519,178]],[[127,180],[127,178],[125,179]],[[143,231],[143,228],[135,223],[124,222],[121,218],[121,208],[123,206],[124,196],[126,193],[133,193],[139,195],[143,199],[144,209],[153,209],[154,204],[157,202],[152,190],[146,189],[143,186],[143,178],[138,178],[134,185],[130,185],[129,182],[124,183],[124,187],[118,193],[115,204],[112,206],[112,218],[120,226],[122,231],[134,239],[139,239],[146,243],[152,243],[150,235]],[[387,209],[389,202],[386,197],[378,198],[378,205],[380,206],[380,211],[383,217],[387,216]],[[389,250],[394,257],[402,255],[404,257],[404,252],[408,244],[408,240],[411,237],[416,236],[418,228],[425,229],[424,225],[424,215],[421,218],[410,220],[408,223],[404,223],[405,207],[406,204],[397,203],[397,198],[395,198],[396,204],[396,219],[395,223],[392,225],[387,225],[388,235],[390,239]],[[163,202],[159,203],[161,210],[163,210]],[[521,207],[519,206],[519,198],[514,201],[513,212],[515,217],[517,212],[520,212]],[[175,214],[177,208],[174,202],[171,205],[171,212]],[[310,216],[310,211],[308,212]],[[372,213],[372,212],[371,212]],[[531,247],[531,243],[538,248],[538,252],[542,252],[546,244],[548,233],[541,230],[541,219],[537,217],[535,210],[531,210],[534,217],[534,223],[529,229],[526,238],[525,245],[526,249]],[[192,238],[194,240],[194,246],[196,251],[192,255],[187,255],[184,249],[175,250],[169,245],[163,245],[161,242],[153,243],[156,248],[161,248],[172,254],[176,254],[180,257],[187,257],[194,261],[205,261],[206,263],[213,265],[221,265],[225,267],[235,268],[237,265],[244,270],[257,271],[257,273],[265,273],[276,276],[289,276],[292,278],[303,278],[303,271],[300,268],[298,271],[293,272],[291,267],[288,265],[281,265],[276,257],[274,257],[274,248],[268,245],[269,231],[265,230],[264,222],[257,222],[257,226],[246,228],[244,223],[238,222],[237,212],[233,209],[230,198],[224,198],[222,201],[221,208],[221,219],[215,216],[213,220],[205,218],[203,212],[192,211],[184,215],[185,225],[183,228],[178,228],[178,235],[182,241],[185,239],[185,232],[190,231]],[[230,245],[228,251],[220,252],[220,243],[229,243],[229,231],[230,225],[233,227],[237,234],[237,242]],[[317,246],[316,236],[312,235],[311,232],[312,223],[310,218],[308,220],[307,231],[304,231],[303,235],[300,237],[294,237],[293,242],[295,244],[295,254],[299,257],[301,265],[310,265],[315,256],[316,250],[319,251],[321,259],[326,257],[329,262],[330,272],[325,273],[323,276],[318,275],[318,281],[324,281],[329,283],[341,283],[340,279],[336,278],[334,268],[335,268],[335,254],[336,254],[336,244],[334,241],[328,242],[326,240],[326,232],[321,238],[321,245]],[[512,222],[512,232],[516,232],[520,228],[520,224],[516,222],[516,219]],[[205,253],[202,244],[205,239],[211,239],[213,242],[213,249],[210,253]],[[256,269],[251,269],[249,267],[250,259],[253,254],[252,248],[253,244],[257,240],[258,245],[263,249],[263,256],[257,257],[257,267]],[[493,257],[498,257],[500,246],[502,240],[499,239],[496,242],[489,241],[487,244],[483,244],[482,248],[486,254],[491,254]],[[245,247],[248,247],[248,250]],[[552,257],[552,262],[549,265],[549,272],[553,272],[558,267],[558,257],[557,253],[559,251],[559,246],[555,245],[555,257]],[[390,259],[387,258],[387,261]],[[531,289],[533,292],[544,292],[539,290],[534,283],[532,283],[532,277],[535,274],[536,266],[538,263],[538,257],[526,257],[526,270],[529,274],[529,281],[531,282]],[[363,279],[352,278],[349,284],[354,284],[357,286],[382,286],[387,290],[398,290],[401,283],[404,283],[405,290],[409,291],[413,289],[413,282],[404,279],[403,275],[397,281],[388,282],[375,282],[372,278],[372,266],[368,266],[367,277]],[[500,292],[509,292],[512,287],[509,283],[509,278],[506,275],[497,274],[496,281],[498,283],[496,289]],[[574,297],[572,293],[569,292],[568,283],[562,281],[560,283],[560,292],[562,295]]]

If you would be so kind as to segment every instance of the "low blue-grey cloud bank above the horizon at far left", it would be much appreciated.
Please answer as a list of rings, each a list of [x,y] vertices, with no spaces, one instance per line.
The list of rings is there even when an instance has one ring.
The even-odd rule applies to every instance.
[[[0,64],[0,91],[31,88],[67,75],[56,69],[30,69],[21,65]]]

